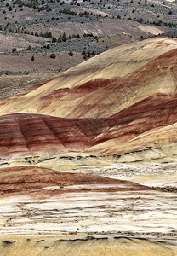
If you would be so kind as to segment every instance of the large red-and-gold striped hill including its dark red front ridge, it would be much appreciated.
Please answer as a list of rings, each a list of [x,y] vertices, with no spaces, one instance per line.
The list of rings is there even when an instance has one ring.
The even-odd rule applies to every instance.
[[[86,151],[126,162],[175,158],[176,59],[174,38],[126,44],[2,101],[1,157]]]

